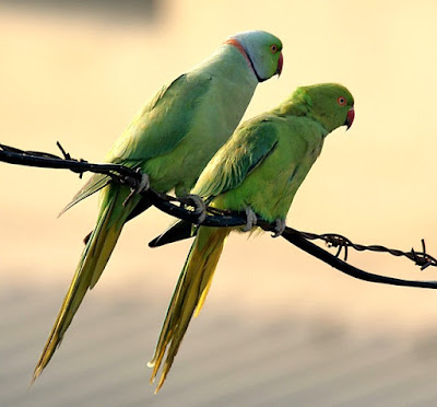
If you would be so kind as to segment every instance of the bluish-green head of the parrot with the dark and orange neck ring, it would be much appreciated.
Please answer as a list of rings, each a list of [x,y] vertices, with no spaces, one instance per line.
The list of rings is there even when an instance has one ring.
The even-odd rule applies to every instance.
[[[264,31],[247,31],[233,35],[226,44],[234,45],[247,58],[259,82],[282,72],[282,43]]]

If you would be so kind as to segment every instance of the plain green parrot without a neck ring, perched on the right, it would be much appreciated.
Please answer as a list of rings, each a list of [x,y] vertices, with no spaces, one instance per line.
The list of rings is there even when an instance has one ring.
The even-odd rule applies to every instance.
[[[203,170],[192,194],[211,207],[245,211],[245,231],[256,230],[252,226],[257,217],[274,222],[274,236],[279,236],[326,136],[340,126],[351,127],[353,119],[354,100],[344,86],[322,83],[298,88],[276,108],[241,124]],[[177,235],[181,224],[188,222],[175,224]],[[167,350],[156,392],[172,368],[192,315],[199,314],[205,301],[225,239],[239,230],[202,225],[197,230],[149,362],[153,383]],[[170,232],[172,228],[167,234]]]

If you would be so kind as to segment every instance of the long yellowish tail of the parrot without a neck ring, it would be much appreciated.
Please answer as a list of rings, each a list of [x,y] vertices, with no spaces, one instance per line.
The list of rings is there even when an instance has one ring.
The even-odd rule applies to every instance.
[[[153,383],[167,350],[155,393],[165,382],[192,315],[198,316],[206,299],[215,267],[229,232],[225,228],[199,229],[168,306],[155,354],[147,363],[150,368],[153,368],[151,375],[151,383]]]

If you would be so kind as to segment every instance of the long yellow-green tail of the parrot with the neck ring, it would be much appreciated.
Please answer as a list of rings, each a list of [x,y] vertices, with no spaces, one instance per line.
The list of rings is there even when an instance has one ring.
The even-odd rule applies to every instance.
[[[36,364],[31,384],[39,376],[61,344],[63,335],[70,326],[82,300],[87,290],[92,289],[101,277],[121,233],[129,208],[121,207],[120,209],[120,202],[126,198],[125,195],[127,194],[125,194],[125,189],[127,193],[129,193],[129,189],[111,188],[113,190],[105,190],[103,193],[108,194],[107,199],[105,205],[102,206],[97,224],[82,252],[73,280]],[[109,194],[111,195],[109,196]],[[132,206],[134,205],[134,202],[131,203]]]

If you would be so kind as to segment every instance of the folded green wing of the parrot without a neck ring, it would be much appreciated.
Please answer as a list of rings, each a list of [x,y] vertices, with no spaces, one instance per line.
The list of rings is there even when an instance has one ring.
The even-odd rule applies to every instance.
[[[273,117],[259,116],[245,121],[208,164],[192,190],[210,201],[220,194],[235,189],[277,144]]]

